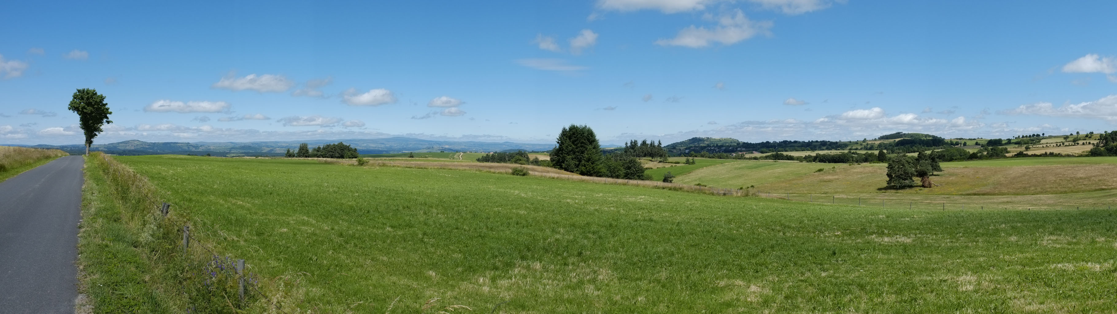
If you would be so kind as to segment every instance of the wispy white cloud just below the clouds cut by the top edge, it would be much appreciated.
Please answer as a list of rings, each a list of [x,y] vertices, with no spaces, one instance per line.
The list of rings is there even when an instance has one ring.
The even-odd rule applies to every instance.
[[[712,42],[733,45],[756,35],[771,35],[771,31],[768,31],[771,28],[771,21],[754,22],[748,20],[741,10],[735,10],[733,15],[718,17],[717,26],[713,28],[691,25],[679,30],[679,34],[675,38],[656,40],[656,45],[689,48],[708,47]]]

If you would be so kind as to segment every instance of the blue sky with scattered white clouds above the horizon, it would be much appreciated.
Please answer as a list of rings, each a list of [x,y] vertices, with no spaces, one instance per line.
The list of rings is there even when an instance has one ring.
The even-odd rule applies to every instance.
[[[1117,1],[17,1],[0,143],[1117,130]]]

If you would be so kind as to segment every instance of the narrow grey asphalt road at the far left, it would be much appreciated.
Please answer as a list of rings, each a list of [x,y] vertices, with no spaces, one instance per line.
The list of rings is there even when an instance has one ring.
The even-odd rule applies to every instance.
[[[74,313],[82,156],[0,182],[0,313]]]

